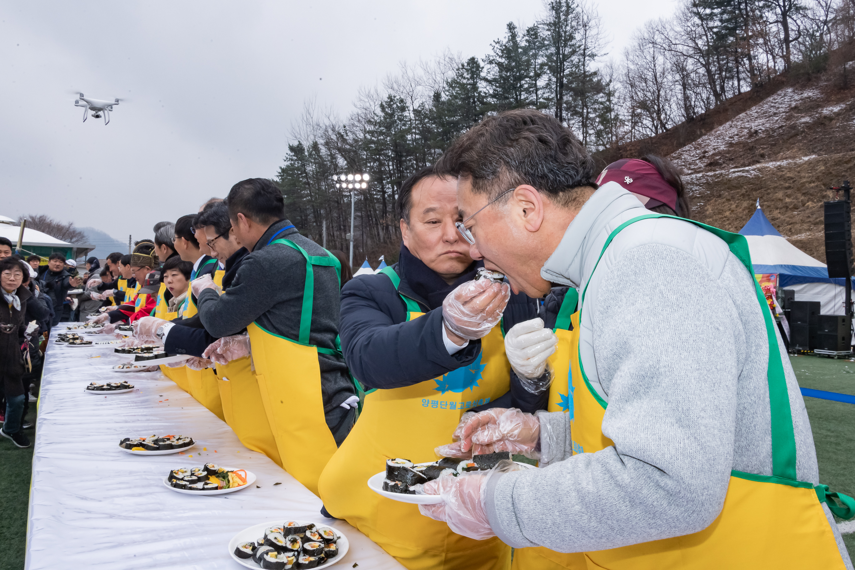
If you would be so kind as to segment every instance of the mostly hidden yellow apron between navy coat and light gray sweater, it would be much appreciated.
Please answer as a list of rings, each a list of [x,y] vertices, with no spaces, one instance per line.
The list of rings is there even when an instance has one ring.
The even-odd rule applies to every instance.
[[[552,367],[552,384],[549,387],[550,412],[566,412],[570,414],[570,435],[575,435],[576,381],[581,379],[579,361],[573,358],[579,350],[579,313],[575,312],[579,292],[569,289],[564,295],[561,309],[555,321],[555,332],[558,344],[555,353],[549,357]],[[605,439],[605,438],[604,438]],[[605,441],[609,441],[605,439]],[[609,444],[611,444],[609,442]],[[581,552],[556,552],[543,546],[514,550],[513,570],[586,570],[587,562]]]

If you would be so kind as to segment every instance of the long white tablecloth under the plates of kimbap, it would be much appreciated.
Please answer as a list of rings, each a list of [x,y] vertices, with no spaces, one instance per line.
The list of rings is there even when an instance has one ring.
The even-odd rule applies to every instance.
[[[27,526],[27,570],[40,568],[242,568],[227,545],[268,520],[313,520],[345,533],[350,551],[335,568],[403,568],[343,520],[324,519],[321,500],[160,372],[114,373],[128,356],[115,346],[55,344],[52,332],[38,403]],[[93,335],[91,339],[100,335]],[[128,380],[136,390],[87,394],[92,381]],[[121,438],[185,434],[184,455],[130,455]],[[203,448],[207,450],[203,450]],[[190,457],[192,455],[192,457]],[[168,471],[206,462],[245,468],[255,485],[214,497],[162,484]],[[281,483],[281,485],[274,485]]]

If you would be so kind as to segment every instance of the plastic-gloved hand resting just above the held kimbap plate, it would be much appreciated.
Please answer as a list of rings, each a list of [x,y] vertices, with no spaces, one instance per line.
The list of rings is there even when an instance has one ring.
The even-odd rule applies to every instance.
[[[437,455],[463,457],[510,451],[539,459],[540,420],[518,408],[492,408],[461,419],[455,430],[457,444],[440,445]]]

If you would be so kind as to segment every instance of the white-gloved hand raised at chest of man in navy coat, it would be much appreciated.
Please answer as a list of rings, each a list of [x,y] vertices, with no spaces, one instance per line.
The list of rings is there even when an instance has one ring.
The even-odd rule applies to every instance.
[[[555,354],[558,337],[543,320],[532,319],[516,323],[504,335],[504,354],[510,367],[522,380],[522,387],[532,394],[540,394],[549,388],[551,373],[545,374],[546,359]]]

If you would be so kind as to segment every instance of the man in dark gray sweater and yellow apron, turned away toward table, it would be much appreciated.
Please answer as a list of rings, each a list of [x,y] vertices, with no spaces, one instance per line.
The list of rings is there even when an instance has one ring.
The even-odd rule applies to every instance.
[[[215,337],[248,328],[282,464],[317,491],[321,470],[351,431],[358,400],[337,347],[338,260],[286,220],[282,193],[270,180],[239,182],[227,203],[234,234],[250,253],[221,296],[209,277],[193,282],[199,316]],[[298,451],[304,446],[316,452]]]

